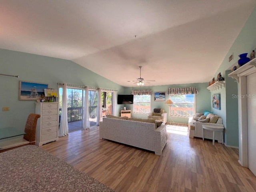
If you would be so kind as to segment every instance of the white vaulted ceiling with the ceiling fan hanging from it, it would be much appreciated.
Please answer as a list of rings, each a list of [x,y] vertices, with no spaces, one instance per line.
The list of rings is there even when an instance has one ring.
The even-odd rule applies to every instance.
[[[256,0],[0,0],[0,48],[68,59],[122,86],[209,82]],[[136,36],[136,37],[135,37]]]

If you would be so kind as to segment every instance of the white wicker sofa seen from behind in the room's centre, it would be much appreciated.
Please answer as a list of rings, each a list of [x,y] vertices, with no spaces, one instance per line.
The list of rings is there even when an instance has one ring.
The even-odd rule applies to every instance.
[[[104,117],[100,122],[100,139],[120,142],[162,155],[167,142],[164,124],[157,127],[155,120],[123,118]]]

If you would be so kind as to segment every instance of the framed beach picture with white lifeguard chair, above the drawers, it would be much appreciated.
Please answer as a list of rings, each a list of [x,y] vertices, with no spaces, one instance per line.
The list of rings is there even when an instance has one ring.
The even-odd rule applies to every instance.
[[[48,89],[48,84],[20,81],[19,100],[36,101],[44,94],[44,89]]]

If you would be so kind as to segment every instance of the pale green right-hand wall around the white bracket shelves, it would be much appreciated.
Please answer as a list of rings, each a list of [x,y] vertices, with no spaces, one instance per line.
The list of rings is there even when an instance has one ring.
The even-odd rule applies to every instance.
[[[226,88],[222,88],[221,93],[225,94],[225,105],[222,105],[222,109],[220,111],[216,111],[216,114],[223,116],[226,113],[226,117],[224,118],[224,126],[226,128],[225,134],[225,143],[228,146],[239,146],[238,142],[238,104],[235,99],[232,99],[232,94],[237,93],[238,84],[234,83],[234,79],[229,78],[227,75],[230,73],[226,72],[226,70],[230,70],[232,65],[236,64],[239,59],[239,54],[248,53],[248,57],[250,57],[250,53],[254,48],[256,48],[256,8],[253,10],[252,14],[246,21],[244,27],[240,31],[240,34],[234,41],[230,50],[226,54],[223,62],[215,73],[215,77],[219,72],[221,72],[222,76],[225,77]],[[220,45],[221,46],[221,45]],[[228,57],[234,53],[234,60],[228,62]],[[229,78],[229,79],[228,79]],[[225,93],[224,93],[225,91]],[[223,111],[222,111],[223,110]]]

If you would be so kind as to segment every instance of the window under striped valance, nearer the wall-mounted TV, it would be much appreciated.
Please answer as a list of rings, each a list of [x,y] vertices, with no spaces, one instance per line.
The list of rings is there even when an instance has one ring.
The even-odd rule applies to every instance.
[[[133,112],[150,113],[151,95],[134,95]]]

